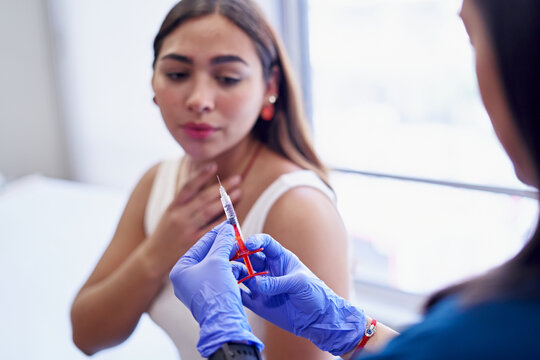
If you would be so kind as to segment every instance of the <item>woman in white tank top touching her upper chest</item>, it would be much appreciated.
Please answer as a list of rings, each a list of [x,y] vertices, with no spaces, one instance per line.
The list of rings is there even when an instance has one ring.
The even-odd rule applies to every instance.
[[[198,324],[167,276],[224,218],[216,175],[246,236],[280,238],[347,296],[348,266],[338,250],[347,247],[346,231],[291,68],[260,10],[250,0],[183,0],[165,18],[154,53],[154,101],[185,156],[152,167],[133,190],[73,302],[75,344],[93,354],[121,343],[148,312],[183,359],[200,358]],[[301,216],[308,209],[309,220]],[[329,357],[256,315],[251,324],[268,345],[267,359]]]

